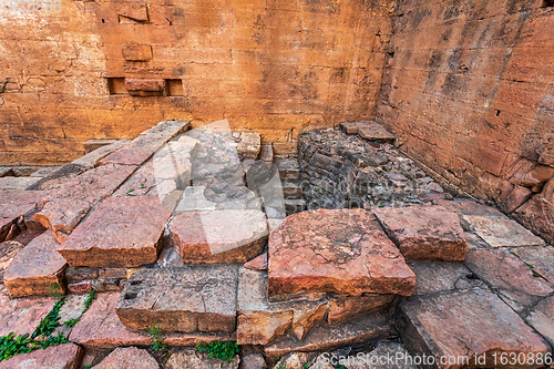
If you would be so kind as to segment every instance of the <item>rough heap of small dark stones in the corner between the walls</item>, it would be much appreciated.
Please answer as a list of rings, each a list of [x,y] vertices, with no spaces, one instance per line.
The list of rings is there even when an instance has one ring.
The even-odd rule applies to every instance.
[[[392,144],[340,129],[301,132],[298,162],[309,209],[420,205],[450,197]]]

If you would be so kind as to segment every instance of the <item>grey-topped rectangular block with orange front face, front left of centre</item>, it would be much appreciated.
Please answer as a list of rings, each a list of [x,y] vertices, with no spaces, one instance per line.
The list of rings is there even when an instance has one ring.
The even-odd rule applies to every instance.
[[[233,332],[237,286],[233,265],[142,269],[126,283],[117,317],[132,329]]]

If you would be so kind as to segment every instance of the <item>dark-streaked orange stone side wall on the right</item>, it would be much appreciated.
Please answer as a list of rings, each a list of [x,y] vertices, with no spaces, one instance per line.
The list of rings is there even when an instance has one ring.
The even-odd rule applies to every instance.
[[[552,239],[552,1],[402,1],[393,18],[377,120],[402,151]]]

